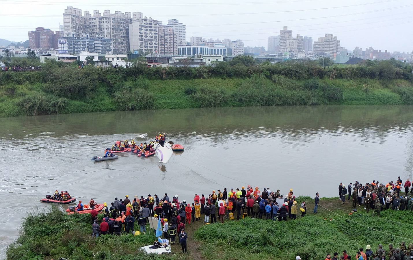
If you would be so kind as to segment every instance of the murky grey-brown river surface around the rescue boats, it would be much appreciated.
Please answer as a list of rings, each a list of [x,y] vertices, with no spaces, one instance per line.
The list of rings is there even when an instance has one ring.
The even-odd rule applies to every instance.
[[[108,204],[149,193],[192,201],[218,188],[337,196],[339,182],[411,178],[413,106],[235,107],[0,118],[0,257],[27,212],[56,189]],[[160,132],[185,146],[168,163],[121,153],[117,140]],[[143,137],[147,134],[147,137]],[[142,138],[143,137],[143,138]]]

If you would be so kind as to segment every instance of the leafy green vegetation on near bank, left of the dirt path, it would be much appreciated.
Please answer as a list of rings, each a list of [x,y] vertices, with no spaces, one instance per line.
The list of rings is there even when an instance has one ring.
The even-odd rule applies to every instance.
[[[102,215],[99,217],[101,220]],[[91,223],[90,214],[68,216],[55,207],[49,212],[30,214],[22,224],[19,239],[7,247],[6,257],[9,260],[172,259],[139,251],[141,246],[153,243],[153,232],[152,235],[108,235],[93,239]]]

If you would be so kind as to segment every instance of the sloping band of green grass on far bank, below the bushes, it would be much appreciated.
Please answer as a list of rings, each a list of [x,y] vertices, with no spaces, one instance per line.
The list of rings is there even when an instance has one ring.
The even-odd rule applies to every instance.
[[[313,85],[309,85],[309,81]],[[0,117],[195,107],[413,104],[413,85],[403,79],[304,81],[280,75],[273,75],[271,79],[253,75],[244,79],[138,78],[113,82],[110,86],[105,82],[97,83],[86,92],[78,90],[83,86],[80,83],[72,84],[70,87],[77,88],[78,93],[87,93],[79,95],[62,94],[69,91],[62,89],[62,83],[59,88],[51,87],[50,83],[29,81],[6,83],[0,85]],[[142,98],[147,102],[142,102]],[[44,103],[45,99],[54,100],[54,103]],[[27,107],[28,100],[36,107],[33,108],[33,104]],[[53,107],[57,103],[59,107]]]

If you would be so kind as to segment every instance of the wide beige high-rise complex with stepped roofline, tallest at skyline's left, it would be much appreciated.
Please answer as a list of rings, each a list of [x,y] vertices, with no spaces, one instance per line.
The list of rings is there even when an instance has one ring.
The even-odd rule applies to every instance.
[[[82,15],[82,10],[69,6],[63,13],[64,36],[87,33],[93,39],[111,39],[112,52],[125,53],[129,51],[131,21],[130,12],[116,11],[111,14],[110,10],[104,10],[101,14],[95,10],[92,16],[89,12],[83,12]]]

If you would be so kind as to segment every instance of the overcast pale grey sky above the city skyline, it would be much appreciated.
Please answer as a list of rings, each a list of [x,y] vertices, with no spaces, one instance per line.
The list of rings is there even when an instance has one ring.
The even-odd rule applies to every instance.
[[[142,12],[162,21],[176,18],[191,36],[242,39],[245,46],[264,46],[267,37],[288,26],[303,36],[333,33],[348,50],[354,47],[411,52],[411,0],[2,0],[0,38],[26,41],[38,26],[59,29],[66,6],[83,11]]]

